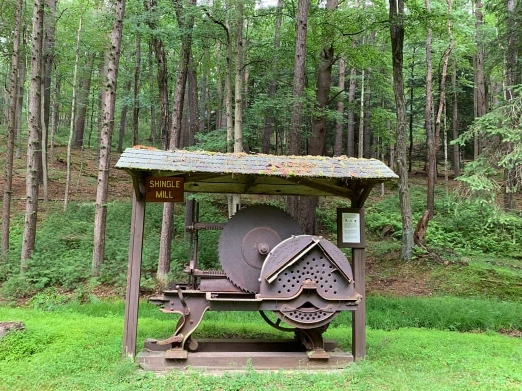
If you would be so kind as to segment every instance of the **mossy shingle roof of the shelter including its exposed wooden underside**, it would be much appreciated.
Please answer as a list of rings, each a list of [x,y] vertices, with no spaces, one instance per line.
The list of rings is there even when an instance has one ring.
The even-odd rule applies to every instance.
[[[358,197],[398,178],[375,159],[127,148],[116,168],[185,178],[188,192]]]

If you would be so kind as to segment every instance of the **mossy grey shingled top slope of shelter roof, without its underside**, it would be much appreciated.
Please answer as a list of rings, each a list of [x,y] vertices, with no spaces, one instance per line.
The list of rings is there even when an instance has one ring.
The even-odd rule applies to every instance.
[[[258,174],[281,177],[396,179],[383,162],[346,156],[275,156],[127,148],[116,168],[151,172]]]

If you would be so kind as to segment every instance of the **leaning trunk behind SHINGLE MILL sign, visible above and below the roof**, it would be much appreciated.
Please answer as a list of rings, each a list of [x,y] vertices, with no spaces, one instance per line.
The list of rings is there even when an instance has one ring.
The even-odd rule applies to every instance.
[[[189,5],[195,5],[195,0],[189,0]],[[180,62],[177,67],[176,86],[174,91],[174,105],[172,108],[172,127],[169,149],[174,150],[180,146],[181,120],[183,115],[183,98],[187,81],[188,58],[191,52],[192,27],[194,14],[185,14],[181,0],[174,3],[177,23],[185,33],[182,37]],[[170,270],[170,249],[172,244],[172,222],[174,220],[174,205],[171,202],[163,204],[163,220],[161,225],[160,253],[157,276],[160,284],[167,283],[167,274]]]

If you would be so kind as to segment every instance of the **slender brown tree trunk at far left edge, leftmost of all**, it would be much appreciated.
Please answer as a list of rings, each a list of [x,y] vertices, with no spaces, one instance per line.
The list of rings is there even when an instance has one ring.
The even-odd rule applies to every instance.
[[[2,199],[2,249],[0,264],[7,262],[9,254],[9,221],[11,215],[11,193],[13,192],[13,156],[15,153],[16,106],[18,104],[18,68],[20,65],[20,26],[22,21],[22,0],[16,1],[13,54],[11,55],[11,75],[9,86],[9,114],[7,123],[7,145],[5,155],[4,196]]]

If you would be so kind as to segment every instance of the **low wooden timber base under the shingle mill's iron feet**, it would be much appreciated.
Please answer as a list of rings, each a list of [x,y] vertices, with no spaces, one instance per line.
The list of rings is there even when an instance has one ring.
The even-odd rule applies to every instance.
[[[147,371],[188,368],[205,370],[317,370],[340,369],[353,362],[351,353],[337,351],[335,341],[326,340],[330,358],[310,360],[300,344],[291,339],[198,339],[198,351],[189,352],[185,360],[165,359],[164,351],[143,349],[137,361]],[[334,351],[335,350],[335,351]]]

